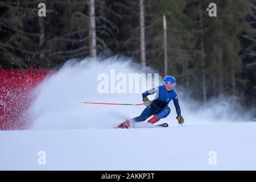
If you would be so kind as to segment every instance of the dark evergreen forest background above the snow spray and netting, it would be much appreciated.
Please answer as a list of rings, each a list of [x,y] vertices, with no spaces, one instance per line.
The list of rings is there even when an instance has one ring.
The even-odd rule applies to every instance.
[[[91,0],[90,0],[91,1]],[[59,68],[92,55],[90,2],[1,1],[0,64],[3,69]],[[46,4],[46,17],[38,4]],[[142,3],[143,2],[143,3]],[[256,1],[95,0],[97,56],[125,55],[164,73],[163,15],[167,21],[167,74],[198,100],[237,96],[255,107]],[[143,6],[143,7],[142,7]],[[141,49],[141,8],[144,50]]]

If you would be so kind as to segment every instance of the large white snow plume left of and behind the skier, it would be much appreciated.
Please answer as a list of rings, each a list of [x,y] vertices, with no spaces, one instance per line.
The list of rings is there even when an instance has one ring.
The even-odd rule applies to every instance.
[[[122,73],[127,79],[129,73],[152,73],[149,68],[142,71],[138,64],[121,56],[70,60],[35,90],[37,98],[30,108],[30,113],[35,116],[34,129],[111,128],[125,119],[139,115],[144,109],[143,105],[81,104],[82,101],[142,103],[141,93],[145,90],[139,93],[117,93],[116,90],[114,93],[98,92],[98,84],[102,80],[97,78],[102,73],[109,76],[109,92],[111,91],[113,77],[110,76],[110,69],[115,69],[115,76]],[[116,86],[117,83],[118,81],[115,81],[113,85]]]

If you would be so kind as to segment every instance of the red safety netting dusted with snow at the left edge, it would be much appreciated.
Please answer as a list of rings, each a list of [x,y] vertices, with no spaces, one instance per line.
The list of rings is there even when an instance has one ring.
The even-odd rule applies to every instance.
[[[10,69],[0,65],[0,130],[29,129],[32,117],[26,113],[34,101],[31,94],[49,73],[47,69]]]

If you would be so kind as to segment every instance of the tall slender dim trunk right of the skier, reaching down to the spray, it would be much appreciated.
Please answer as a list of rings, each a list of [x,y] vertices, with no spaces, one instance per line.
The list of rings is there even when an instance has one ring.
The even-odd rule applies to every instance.
[[[201,5],[201,1],[200,1]],[[201,28],[201,40],[200,40],[200,51],[201,51],[201,73],[202,73],[202,89],[203,89],[203,101],[207,101],[207,84],[205,75],[205,58],[204,58],[204,38],[203,38],[203,12],[202,6],[200,6],[200,28]]]

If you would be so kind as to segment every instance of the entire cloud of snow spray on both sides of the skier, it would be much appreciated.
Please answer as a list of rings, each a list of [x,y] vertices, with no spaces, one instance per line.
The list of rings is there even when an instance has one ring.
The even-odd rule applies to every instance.
[[[96,105],[81,104],[85,102],[113,102],[125,104],[142,103],[140,93],[99,93],[98,76],[106,73],[111,81],[110,69],[115,69],[115,76],[124,73],[154,73],[152,69],[142,70],[138,64],[121,56],[109,59],[89,59],[82,61],[68,61],[57,73],[47,78],[35,90],[37,96],[29,112],[35,117],[33,129],[90,129],[112,128],[125,119],[133,118],[141,114],[145,108],[142,106],[125,105]],[[118,78],[117,78],[118,79]],[[160,78],[162,80],[162,78]],[[115,85],[118,81],[115,81]],[[160,84],[162,82],[159,82]],[[155,85],[156,86],[156,85]],[[180,89],[179,79],[176,88],[180,100],[181,113],[186,125],[210,123],[217,121],[237,120],[237,111],[234,104],[226,99],[210,101],[207,105],[185,97],[185,91]],[[110,90],[110,88],[109,88]],[[150,97],[151,100],[153,97]],[[161,120],[169,125],[177,125],[176,111],[172,101],[170,102],[171,114]],[[230,119],[232,118],[232,119]],[[139,123],[137,127],[145,127],[146,123]],[[146,126],[148,127],[148,126]]]

